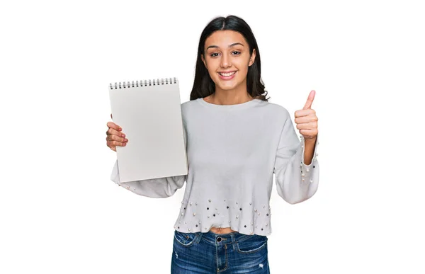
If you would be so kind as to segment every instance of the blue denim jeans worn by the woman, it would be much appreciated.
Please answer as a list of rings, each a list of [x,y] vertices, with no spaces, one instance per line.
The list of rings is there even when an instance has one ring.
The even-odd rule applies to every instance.
[[[171,274],[270,273],[267,236],[174,231]]]

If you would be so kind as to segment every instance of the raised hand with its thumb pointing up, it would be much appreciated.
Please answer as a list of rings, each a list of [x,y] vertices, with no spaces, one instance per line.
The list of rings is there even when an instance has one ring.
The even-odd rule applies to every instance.
[[[312,103],[316,91],[310,91],[310,94],[305,102],[302,110],[295,111],[295,124],[297,129],[300,131],[300,135],[304,136],[305,141],[315,142],[317,137],[317,120],[316,111],[312,109]]]

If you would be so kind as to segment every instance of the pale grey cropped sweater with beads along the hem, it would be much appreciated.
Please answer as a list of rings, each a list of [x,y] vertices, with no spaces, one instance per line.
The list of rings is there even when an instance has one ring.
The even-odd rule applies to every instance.
[[[121,183],[118,161],[111,173],[113,182],[151,198],[174,195],[186,182],[174,224],[179,232],[230,227],[242,234],[271,234],[273,173],[278,195],[290,204],[316,193],[318,136],[306,165],[305,139],[297,137],[283,106],[260,99],[215,105],[198,98],[182,103],[181,114],[187,175]]]

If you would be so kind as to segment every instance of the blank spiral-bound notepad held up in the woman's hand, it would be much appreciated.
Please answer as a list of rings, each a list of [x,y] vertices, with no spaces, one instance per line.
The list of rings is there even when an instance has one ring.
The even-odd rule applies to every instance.
[[[121,182],[186,175],[179,81],[151,79],[109,84],[113,122],[128,139],[117,146]]]

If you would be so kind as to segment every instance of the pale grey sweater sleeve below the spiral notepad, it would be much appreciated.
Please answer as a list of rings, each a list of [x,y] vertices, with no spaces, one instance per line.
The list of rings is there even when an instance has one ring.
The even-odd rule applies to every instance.
[[[184,144],[187,149],[186,130],[184,128],[183,137]],[[183,187],[183,184],[186,180],[187,174],[121,183],[120,173],[118,171],[118,160],[115,161],[115,165],[113,166],[111,173],[111,181],[115,182],[116,184],[122,186],[125,189],[132,191],[133,193],[150,198],[170,197],[174,195],[174,193],[176,193],[179,188]]]

